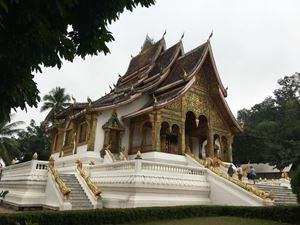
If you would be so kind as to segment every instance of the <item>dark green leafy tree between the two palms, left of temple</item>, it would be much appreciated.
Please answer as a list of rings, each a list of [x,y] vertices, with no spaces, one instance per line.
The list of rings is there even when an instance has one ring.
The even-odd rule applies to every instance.
[[[49,159],[51,141],[45,132],[43,123],[38,126],[34,120],[31,120],[26,130],[18,132],[17,140],[20,144],[23,162],[31,160],[35,152],[38,154],[39,160]]]

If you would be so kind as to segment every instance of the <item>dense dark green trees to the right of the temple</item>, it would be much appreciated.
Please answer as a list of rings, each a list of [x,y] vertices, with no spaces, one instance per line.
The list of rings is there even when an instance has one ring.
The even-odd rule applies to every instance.
[[[274,97],[238,112],[244,133],[235,139],[236,161],[270,162],[279,169],[300,163],[300,74],[278,84]]]

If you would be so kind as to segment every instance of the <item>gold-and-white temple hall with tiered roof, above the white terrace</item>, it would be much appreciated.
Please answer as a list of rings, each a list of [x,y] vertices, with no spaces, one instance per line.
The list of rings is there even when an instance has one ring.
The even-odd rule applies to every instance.
[[[110,93],[72,104],[49,128],[56,158],[84,152],[157,151],[232,161],[241,132],[227,103],[210,41],[184,52],[148,36]],[[99,155],[99,154],[98,154]]]

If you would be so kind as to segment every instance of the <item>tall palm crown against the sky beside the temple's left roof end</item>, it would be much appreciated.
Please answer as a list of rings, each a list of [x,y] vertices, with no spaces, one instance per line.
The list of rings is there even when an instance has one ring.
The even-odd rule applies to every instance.
[[[53,88],[49,94],[43,97],[44,105],[41,112],[50,109],[50,112],[45,118],[45,122],[53,122],[55,114],[65,109],[70,105],[70,95],[65,94],[65,89],[61,87]]]

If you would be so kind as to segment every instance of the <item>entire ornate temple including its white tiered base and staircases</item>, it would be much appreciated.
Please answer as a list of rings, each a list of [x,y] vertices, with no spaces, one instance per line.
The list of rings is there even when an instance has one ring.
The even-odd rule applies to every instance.
[[[52,210],[296,204],[295,196],[273,200],[268,181],[253,186],[249,165],[244,177],[228,176],[234,135],[242,130],[209,39],[185,53],[182,38],[167,48],[164,36],[147,37],[110,89],[95,101],[73,99],[56,115],[47,128],[48,161],[35,153],[2,169],[3,203]],[[277,186],[292,194],[287,174]]]

